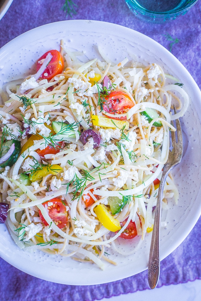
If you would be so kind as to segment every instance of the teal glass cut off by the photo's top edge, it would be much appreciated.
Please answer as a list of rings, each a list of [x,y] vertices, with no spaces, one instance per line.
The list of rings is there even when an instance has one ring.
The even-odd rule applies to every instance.
[[[174,20],[187,11],[198,0],[126,0],[136,17],[149,22],[162,23]]]

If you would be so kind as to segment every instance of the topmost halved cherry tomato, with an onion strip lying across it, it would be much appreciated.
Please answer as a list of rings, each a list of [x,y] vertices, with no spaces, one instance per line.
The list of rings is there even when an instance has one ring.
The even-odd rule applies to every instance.
[[[41,78],[43,79],[52,79],[55,75],[62,73],[64,70],[64,59],[58,50],[50,50],[43,54],[37,61],[36,70],[38,71],[40,69],[43,60],[46,58],[48,53],[52,54],[52,59],[41,75]]]

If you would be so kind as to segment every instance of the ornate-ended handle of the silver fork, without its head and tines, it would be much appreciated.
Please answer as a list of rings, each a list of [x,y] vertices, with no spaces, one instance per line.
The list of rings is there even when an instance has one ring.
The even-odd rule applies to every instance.
[[[165,166],[164,166],[165,168]],[[163,188],[165,185],[165,179],[168,175],[168,169],[163,169],[161,181],[159,184],[159,191],[157,197],[157,203],[155,208],[155,219],[152,232],[151,247],[149,253],[148,263],[148,282],[151,289],[155,288],[160,274],[160,222],[161,222],[161,206]]]

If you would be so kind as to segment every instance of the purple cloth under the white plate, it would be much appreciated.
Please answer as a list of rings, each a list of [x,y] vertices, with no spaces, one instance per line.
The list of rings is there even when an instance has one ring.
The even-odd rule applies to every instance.
[[[90,19],[135,29],[162,44],[181,61],[201,88],[201,1],[176,20],[163,24],[137,19],[124,0],[74,0],[76,14],[61,9],[68,0],[14,0],[0,20],[0,47],[20,34],[66,19]],[[161,262],[158,287],[201,279],[201,218],[184,242]],[[147,271],[132,277],[91,286],[48,282],[30,276],[0,258],[0,295],[4,301],[92,301],[149,289]]]

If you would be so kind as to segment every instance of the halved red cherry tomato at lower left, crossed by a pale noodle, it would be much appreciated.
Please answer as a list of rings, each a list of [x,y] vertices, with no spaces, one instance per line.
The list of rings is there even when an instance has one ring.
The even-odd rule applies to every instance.
[[[48,206],[48,203],[52,203],[52,205]],[[68,222],[67,216],[68,213],[66,211],[66,206],[62,203],[61,199],[55,197],[54,199],[50,201],[46,201],[42,203],[44,207],[47,206],[49,217],[52,219],[52,221],[60,228],[64,228]],[[39,216],[45,226],[48,226],[48,223],[42,216],[41,211],[39,210]]]

